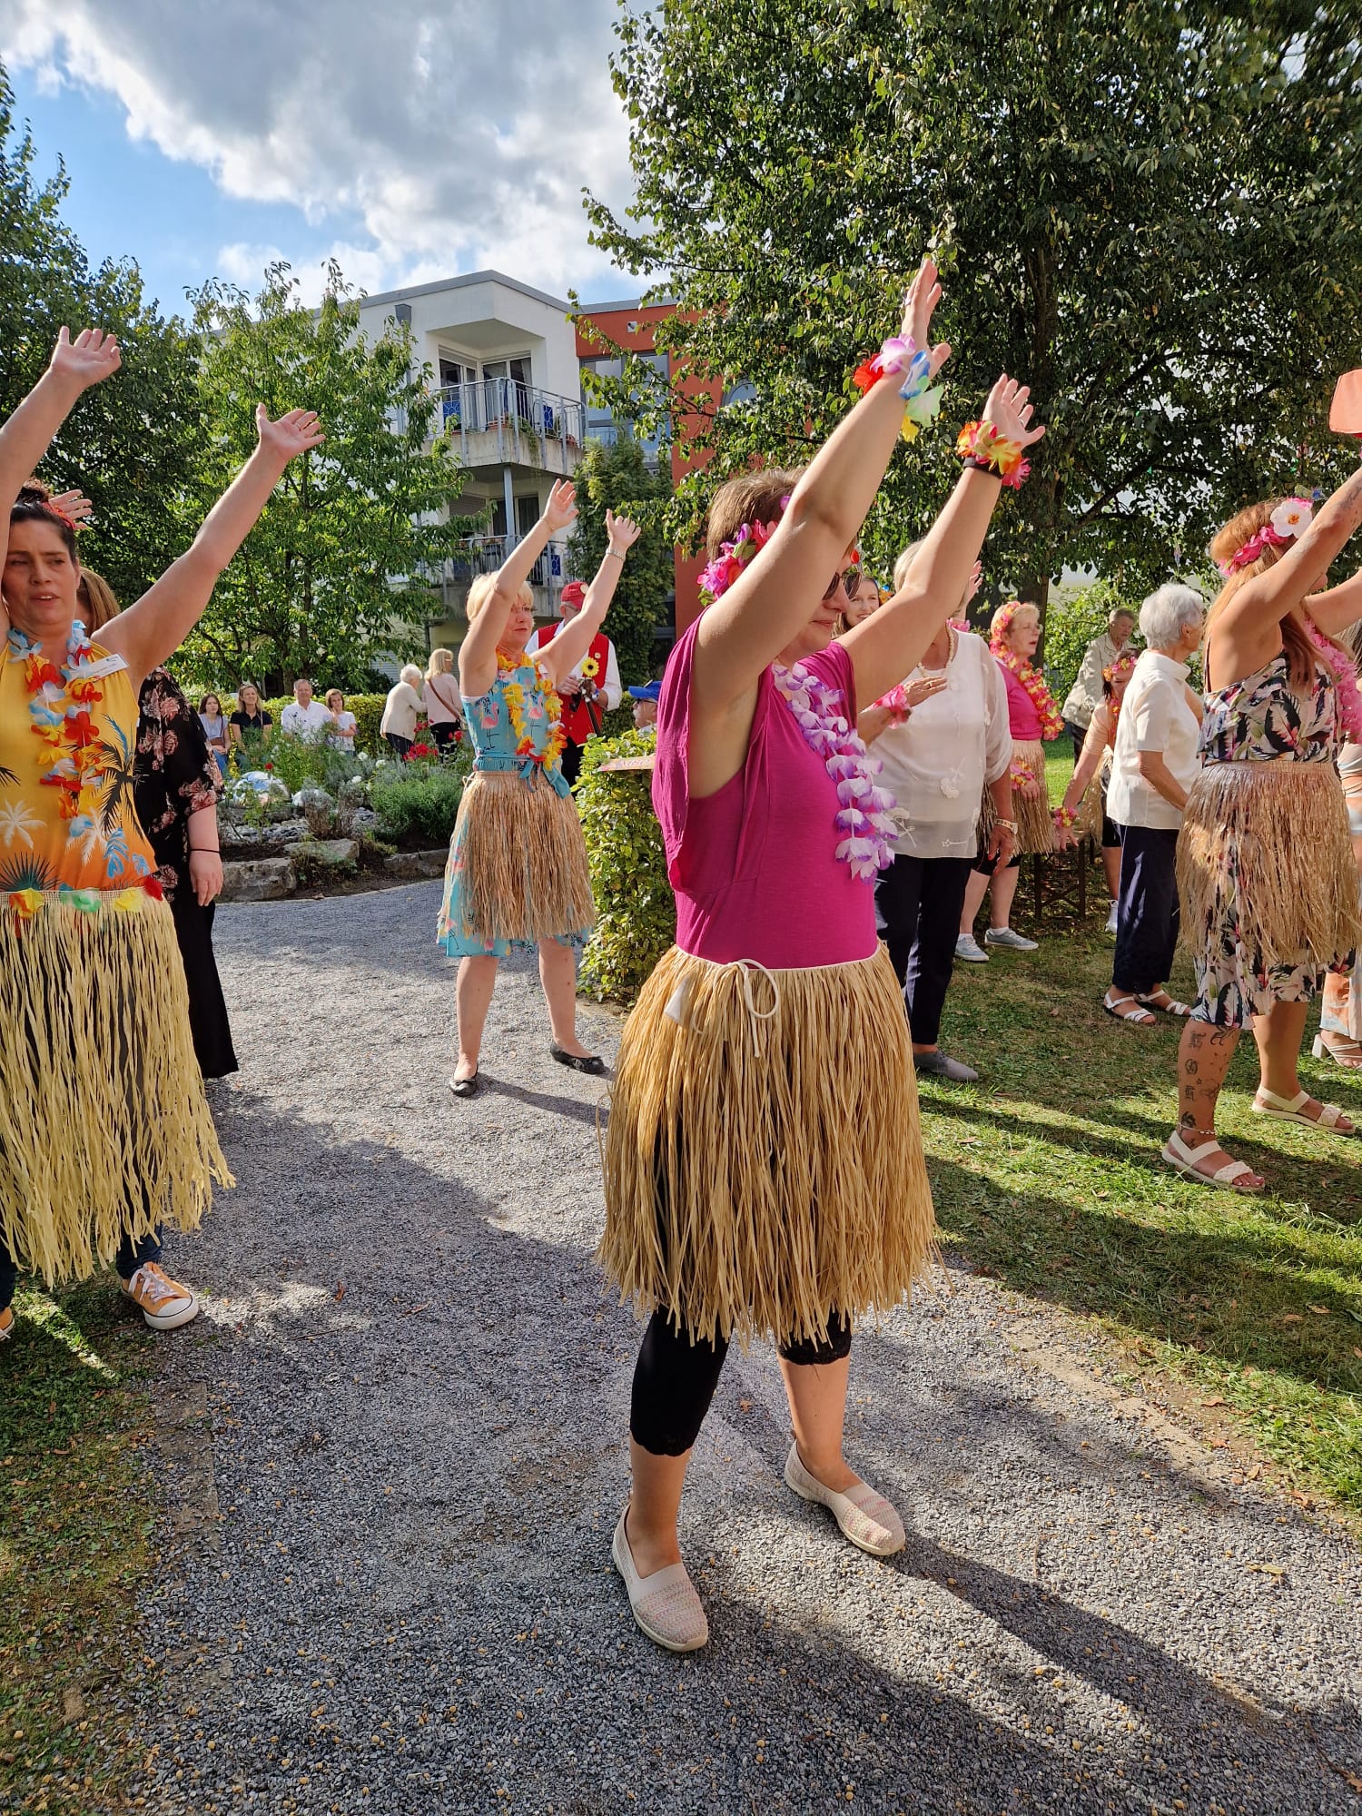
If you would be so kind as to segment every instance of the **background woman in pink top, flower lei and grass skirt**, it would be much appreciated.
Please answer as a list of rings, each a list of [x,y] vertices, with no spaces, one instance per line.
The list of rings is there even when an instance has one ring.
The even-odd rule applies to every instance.
[[[981,964],[988,959],[982,946],[973,937],[973,923],[982,904],[988,884],[993,895],[988,915],[984,946],[1008,946],[1012,952],[1035,952],[1035,941],[1024,939],[1008,926],[1012,903],[1017,895],[1017,868],[1028,852],[1051,852],[1055,848],[1055,823],[1050,817],[1050,792],[1046,788],[1046,752],[1044,746],[1064,730],[1064,717],[1044,683],[1044,676],[1033,665],[1035,646],[1041,641],[1041,612],[1033,605],[1010,599],[993,612],[988,630],[988,646],[1002,670],[1008,688],[1008,730],[1012,732],[1012,801],[1017,814],[1017,834],[1012,857],[1006,864],[984,855],[988,834],[993,826],[993,801],[984,790],[979,819],[979,859],[970,881],[964,886],[964,912],[961,915],[961,937],[955,941],[955,957]]]

